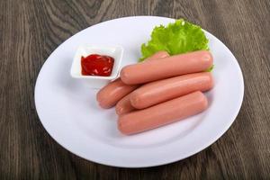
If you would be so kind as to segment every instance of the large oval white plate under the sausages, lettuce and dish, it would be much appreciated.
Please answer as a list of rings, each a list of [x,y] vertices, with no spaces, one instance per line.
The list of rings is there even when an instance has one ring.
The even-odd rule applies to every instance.
[[[157,130],[124,136],[117,130],[114,109],[103,110],[89,89],[69,75],[72,58],[81,44],[119,44],[121,66],[136,63],[140,45],[153,27],[174,19],[137,16],[99,23],[76,33],[53,53],[40,70],[35,86],[36,109],[49,135],[67,150],[109,166],[158,166],[201,151],[229,129],[240,109],[244,83],[237,59],[206,31],[214,58],[214,88],[207,93],[210,107],[183,121]]]

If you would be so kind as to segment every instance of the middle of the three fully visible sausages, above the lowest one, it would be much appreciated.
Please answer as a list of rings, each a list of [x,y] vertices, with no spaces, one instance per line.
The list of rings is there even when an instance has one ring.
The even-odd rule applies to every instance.
[[[213,86],[211,73],[193,73],[154,81],[140,86],[130,94],[130,103],[144,109],[194,91],[207,91]]]

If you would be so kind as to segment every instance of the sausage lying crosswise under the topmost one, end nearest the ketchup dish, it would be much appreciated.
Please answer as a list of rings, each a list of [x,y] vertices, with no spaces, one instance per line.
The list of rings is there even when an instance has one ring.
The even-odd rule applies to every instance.
[[[166,51],[158,51],[153,56],[147,58],[148,60],[158,59],[169,56]],[[126,94],[136,89],[139,85],[125,85],[120,78],[105,85],[97,94],[96,100],[104,109],[111,108]]]

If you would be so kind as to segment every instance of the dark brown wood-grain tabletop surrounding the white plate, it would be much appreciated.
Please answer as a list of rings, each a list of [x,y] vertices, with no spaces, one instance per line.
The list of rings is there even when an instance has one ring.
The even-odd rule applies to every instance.
[[[238,58],[245,78],[238,118],[193,157],[150,168],[98,165],[61,148],[41,126],[33,92],[49,54],[77,31],[130,15],[184,17]],[[0,179],[269,179],[269,23],[269,0],[1,0]]]

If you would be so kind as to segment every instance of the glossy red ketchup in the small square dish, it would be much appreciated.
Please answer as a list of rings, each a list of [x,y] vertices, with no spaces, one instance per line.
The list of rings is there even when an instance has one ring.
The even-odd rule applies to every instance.
[[[91,54],[81,58],[82,75],[111,76],[114,58],[99,54]]]

